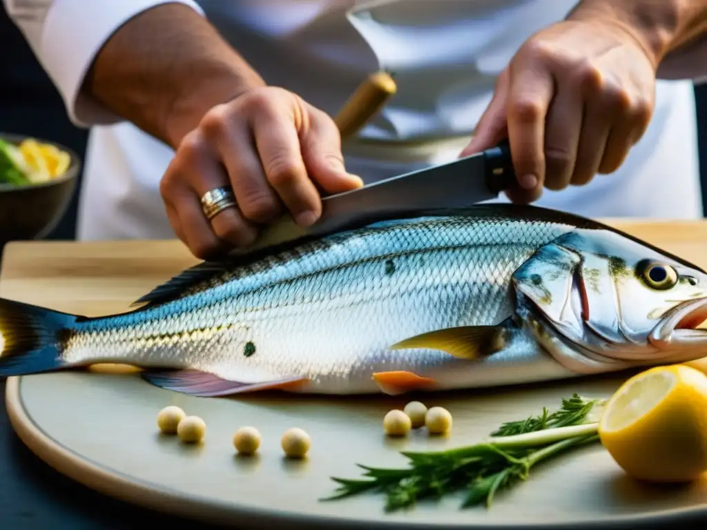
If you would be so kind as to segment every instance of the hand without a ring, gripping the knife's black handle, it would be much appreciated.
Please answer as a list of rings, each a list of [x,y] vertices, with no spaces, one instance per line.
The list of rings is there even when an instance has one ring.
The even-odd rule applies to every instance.
[[[657,61],[616,20],[569,18],[530,37],[498,78],[462,156],[508,139],[516,203],[542,188],[587,184],[611,173],[653,113]]]

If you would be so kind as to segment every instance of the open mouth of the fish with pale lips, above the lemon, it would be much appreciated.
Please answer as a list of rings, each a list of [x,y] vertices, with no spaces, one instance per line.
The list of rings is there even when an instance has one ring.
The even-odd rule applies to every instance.
[[[706,348],[707,355],[707,329],[698,329],[706,321],[707,296],[688,300],[666,312],[648,339],[661,350]]]

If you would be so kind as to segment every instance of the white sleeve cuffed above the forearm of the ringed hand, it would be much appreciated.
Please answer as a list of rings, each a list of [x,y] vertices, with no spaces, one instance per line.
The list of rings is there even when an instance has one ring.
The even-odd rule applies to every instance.
[[[71,122],[83,127],[122,121],[81,91],[95,55],[127,20],[170,2],[204,16],[194,0],[3,0],[8,16],[62,95]]]

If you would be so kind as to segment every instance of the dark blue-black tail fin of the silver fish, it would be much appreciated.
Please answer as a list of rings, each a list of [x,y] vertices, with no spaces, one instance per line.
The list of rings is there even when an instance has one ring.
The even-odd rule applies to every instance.
[[[81,318],[0,298],[0,377],[69,367],[62,360],[61,347]]]

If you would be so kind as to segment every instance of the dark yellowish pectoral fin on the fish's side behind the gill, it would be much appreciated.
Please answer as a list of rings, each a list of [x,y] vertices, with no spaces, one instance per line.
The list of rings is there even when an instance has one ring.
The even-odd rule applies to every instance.
[[[406,338],[390,348],[431,348],[445,351],[460,359],[475,359],[498,351],[503,345],[502,342],[501,326],[460,326]]]

